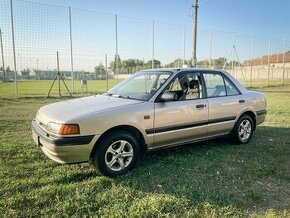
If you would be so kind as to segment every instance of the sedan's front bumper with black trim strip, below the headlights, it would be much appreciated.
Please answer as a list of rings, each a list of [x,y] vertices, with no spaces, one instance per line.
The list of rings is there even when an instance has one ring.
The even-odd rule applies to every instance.
[[[57,137],[43,131],[36,120],[32,120],[32,138],[42,152],[58,163],[86,162],[98,135]]]

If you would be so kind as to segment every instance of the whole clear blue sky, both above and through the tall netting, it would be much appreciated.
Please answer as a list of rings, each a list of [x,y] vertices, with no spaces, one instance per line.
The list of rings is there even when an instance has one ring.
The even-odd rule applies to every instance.
[[[60,52],[62,68],[70,68],[69,6],[72,7],[76,70],[92,70],[97,63],[104,64],[105,54],[109,62],[114,59],[114,14],[119,15],[118,50],[121,59],[148,61],[152,58],[153,20],[155,59],[166,64],[176,58],[183,58],[184,45],[185,59],[191,58],[193,0],[29,0],[40,4],[22,0],[13,2],[16,52],[20,68],[29,66],[53,69],[56,50]],[[8,56],[7,62],[12,65],[9,0],[0,0],[0,3],[4,53]],[[270,53],[281,53],[284,32],[289,33],[290,37],[289,8],[290,0],[199,0],[198,60],[208,59],[210,54],[212,58],[229,59],[233,32],[236,33],[240,61],[266,55],[269,52],[269,38]],[[288,41],[286,50],[290,50]]]

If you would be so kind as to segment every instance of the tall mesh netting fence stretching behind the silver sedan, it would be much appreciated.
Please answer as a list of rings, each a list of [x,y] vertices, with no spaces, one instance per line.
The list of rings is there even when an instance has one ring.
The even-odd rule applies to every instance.
[[[70,92],[96,93],[142,69],[191,64],[191,25],[23,0],[0,0],[0,18],[0,97],[45,96],[57,72]],[[286,37],[201,26],[198,67],[226,69],[248,86],[289,84],[289,46]]]

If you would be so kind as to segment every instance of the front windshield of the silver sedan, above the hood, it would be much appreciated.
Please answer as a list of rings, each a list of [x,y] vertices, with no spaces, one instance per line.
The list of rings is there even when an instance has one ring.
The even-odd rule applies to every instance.
[[[148,101],[171,74],[168,71],[141,71],[113,87],[107,95]]]

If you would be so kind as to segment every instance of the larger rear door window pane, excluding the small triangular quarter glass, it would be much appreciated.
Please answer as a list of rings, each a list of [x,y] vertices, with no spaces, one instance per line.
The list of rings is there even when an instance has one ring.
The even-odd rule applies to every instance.
[[[221,97],[226,96],[225,82],[220,74],[204,73],[204,80],[206,85],[207,97]]]

